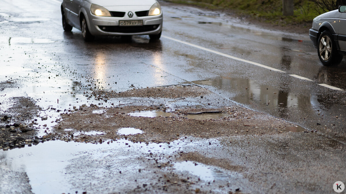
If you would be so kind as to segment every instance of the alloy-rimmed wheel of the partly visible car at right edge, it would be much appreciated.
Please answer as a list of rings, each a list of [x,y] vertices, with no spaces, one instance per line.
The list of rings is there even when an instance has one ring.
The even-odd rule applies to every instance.
[[[333,35],[327,30],[318,38],[317,54],[324,66],[338,65],[343,59],[343,55],[336,48]]]

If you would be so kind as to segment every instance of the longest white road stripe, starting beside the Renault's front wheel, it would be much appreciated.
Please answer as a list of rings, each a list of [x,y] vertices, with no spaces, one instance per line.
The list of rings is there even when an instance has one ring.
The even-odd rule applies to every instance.
[[[241,59],[241,58],[234,57],[234,56],[231,56],[231,55],[227,55],[227,54],[224,54],[222,52],[219,52],[219,51],[216,51],[216,50],[211,50],[211,49],[208,49],[208,48],[204,48],[204,47],[201,47],[201,46],[198,46],[198,45],[194,45],[194,44],[189,43],[189,42],[181,41],[181,40],[178,40],[178,39],[175,39],[175,38],[171,38],[171,37],[168,37],[168,36],[163,36],[163,35],[161,37],[167,38],[167,39],[170,39],[170,40],[174,40],[176,42],[180,42],[180,43],[183,43],[185,45],[189,45],[189,46],[192,46],[192,47],[195,47],[195,48],[199,48],[199,49],[202,49],[202,50],[205,50],[205,51],[209,51],[209,52],[212,52],[212,53],[224,56],[224,57],[228,57],[228,58],[231,58],[231,59],[234,59],[234,60],[246,62],[246,63],[252,64],[252,65],[256,65],[256,66],[263,67],[263,68],[266,68],[266,69],[270,69],[270,70],[273,70],[273,71],[278,71],[278,72],[281,72],[281,73],[285,73],[285,71],[282,71],[280,69],[275,69],[275,68],[272,68],[272,67],[268,67],[266,65],[262,65],[262,64],[253,62],[253,61],[249,61],[249,60]]]

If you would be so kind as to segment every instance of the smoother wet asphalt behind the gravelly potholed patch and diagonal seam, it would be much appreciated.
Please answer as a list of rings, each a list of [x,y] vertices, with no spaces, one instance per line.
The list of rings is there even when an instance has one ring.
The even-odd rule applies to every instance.
[[[261,29],[217,12],[165,3],[163,11],[158,42],[134,36],[131,41],[98,37],[86,43],[79,30],[63,31],[59,1],[2,0],[0,81],[28,81],[2,91],[1,108],[11,106],[13,96],[32,97],[41,107],[66,107],[86,102],[83,88],[125,91],[131,84],[194,83],[346,142],[346,61],[322,66],[308,32]]]

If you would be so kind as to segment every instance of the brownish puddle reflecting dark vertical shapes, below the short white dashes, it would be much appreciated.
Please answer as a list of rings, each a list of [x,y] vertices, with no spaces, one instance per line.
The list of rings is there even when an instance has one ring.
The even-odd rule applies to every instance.
[[[282,80],[282,83],[278,83],[279,86],[285,85],[285,82],[288,81],[299,84],[299,80],[295,80],[293,77],[285,79]],[[285,119],[297,114],[311,114],[311,108],[323,109],[322,103],[328,101],[328,98],[314,100],[316,97],[313,94],[311,96],[303,95],[299,91],[295,91],[295,88],[280,90],[245,78],[219,77],[215,80],[200,80],[193,81],[193,83],[212,86],[211,90],[218,89],[220,93],[225,92],[229,99],[237,103],[256,106],[256,109],[265,109],[269,114]]]

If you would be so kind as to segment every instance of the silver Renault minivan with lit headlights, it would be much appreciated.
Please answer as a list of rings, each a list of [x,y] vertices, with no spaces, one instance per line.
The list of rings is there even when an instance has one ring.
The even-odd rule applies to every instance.
[[[65,31],[77,28],[83,39],[109,35],[149,35],[159,39],[163,15],[156,0],[63,0]]]

